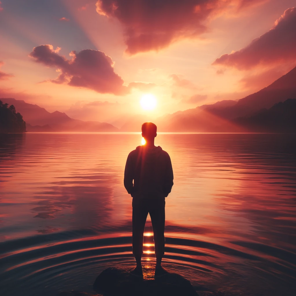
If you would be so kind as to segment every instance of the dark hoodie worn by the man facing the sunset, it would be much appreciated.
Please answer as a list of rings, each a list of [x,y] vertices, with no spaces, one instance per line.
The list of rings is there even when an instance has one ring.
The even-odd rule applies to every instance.
[[[126,160],[124,187],[132,197],[164,199],[173,186],[170,156],[160,146],[138,146]]]

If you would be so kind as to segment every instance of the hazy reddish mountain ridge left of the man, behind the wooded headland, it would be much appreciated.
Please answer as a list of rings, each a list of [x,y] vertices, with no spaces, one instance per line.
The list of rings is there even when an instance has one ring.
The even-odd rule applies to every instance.
[[[13,98],[3,100],[13,104],[22,113],[27,123],[27,131],[118,131],[118,128],[110,123],[73,119],[65,113],[59,111],[50,113],[38,105]]]

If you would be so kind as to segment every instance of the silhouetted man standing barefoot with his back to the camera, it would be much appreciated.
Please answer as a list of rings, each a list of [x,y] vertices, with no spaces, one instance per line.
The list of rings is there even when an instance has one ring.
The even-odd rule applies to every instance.
[[[161,260],[165,247],[165,197],[173,186],[173,168],[170,156],[160,146],[154,145],[157,126],[152,122],[142,125],[142,137],[146,144],[129,153],[124,170],[124,186],[133,201],[133,254],[136,268],[132,275],[143,277],[141,257],[143,254],[144,228],[149,213],[156,255],[155,278],[167,274]]]

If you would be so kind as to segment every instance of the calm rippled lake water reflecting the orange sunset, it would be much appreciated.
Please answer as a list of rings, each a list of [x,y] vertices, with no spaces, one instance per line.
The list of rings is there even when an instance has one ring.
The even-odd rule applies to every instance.
[[[296,135],[156,140],[174,170],[163,266],[200,295],[295,295]],[[0,135],[2,296],[91,292],[108,266],[134,266],[123,170],[140,143],[140,134]],[[151,232],[148,216],[147,278]]]

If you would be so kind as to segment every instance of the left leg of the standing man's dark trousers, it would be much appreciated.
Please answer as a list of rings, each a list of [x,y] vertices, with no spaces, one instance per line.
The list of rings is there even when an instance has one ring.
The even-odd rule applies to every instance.
[[[143,235],[148,209],[144,202],[133,200],[133,254],[141,257],[143,254]]]

